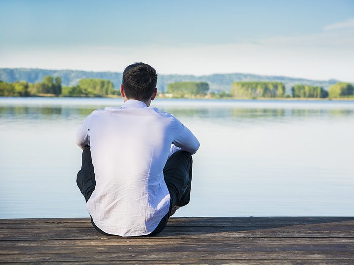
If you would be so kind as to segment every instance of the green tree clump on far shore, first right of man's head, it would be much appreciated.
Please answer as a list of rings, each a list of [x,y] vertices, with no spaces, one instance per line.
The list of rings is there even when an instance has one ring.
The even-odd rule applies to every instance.
[[[176,82],[167,85],[166,92],[175,97],[205,95],[209,91],[206,82]]]

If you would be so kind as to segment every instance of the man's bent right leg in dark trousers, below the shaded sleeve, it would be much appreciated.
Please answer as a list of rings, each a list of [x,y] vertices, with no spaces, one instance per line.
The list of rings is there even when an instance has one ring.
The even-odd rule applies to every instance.
[[[171,196],[168,213],[162,218],[151,236],[160,233],[167,225],[174,206],[185,206],[189,203],[192,183],[192,155],[178,151],[168,158],[163,169],[165,182]]]

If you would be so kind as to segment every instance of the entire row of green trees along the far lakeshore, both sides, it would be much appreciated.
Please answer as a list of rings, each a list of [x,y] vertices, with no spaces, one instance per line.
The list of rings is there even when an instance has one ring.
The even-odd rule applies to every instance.
[[[291,95],[285,94],[285,84],[282,82],[249,81],[233,82],[231,92],[209,92],[207,82],[174,82],[167,85],[166,94],[172,97],[203,97],[208,95],[213,98],[245,97],[245,98],[341,98],[354,97],[354,86],[350,83],[338,82],[328,88],[296,84],[291,88]],[[45,76],[42,82],[28,83],[16,81],[7,83],[0,81],[0,96],[69,96],[104,97],[120,95],[114,89],[110,80],[106,79],[81,79],[78,85],[62,86],[60,77]]]

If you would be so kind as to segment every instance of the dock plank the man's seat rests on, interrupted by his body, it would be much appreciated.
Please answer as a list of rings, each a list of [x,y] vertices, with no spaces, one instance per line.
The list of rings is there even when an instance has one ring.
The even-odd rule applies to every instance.
[[[107,239],[94,228],[0,229],[0,240]],[[299,225],[286,227],[166,227],[157,237],[242,238],[242,237],[354,237],[354,226]]]

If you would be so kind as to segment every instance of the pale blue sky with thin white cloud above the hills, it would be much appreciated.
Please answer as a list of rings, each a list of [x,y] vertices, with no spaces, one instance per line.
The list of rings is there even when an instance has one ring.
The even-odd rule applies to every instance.
[[[0,68],[354,82],[353,0],[0,0]]]

